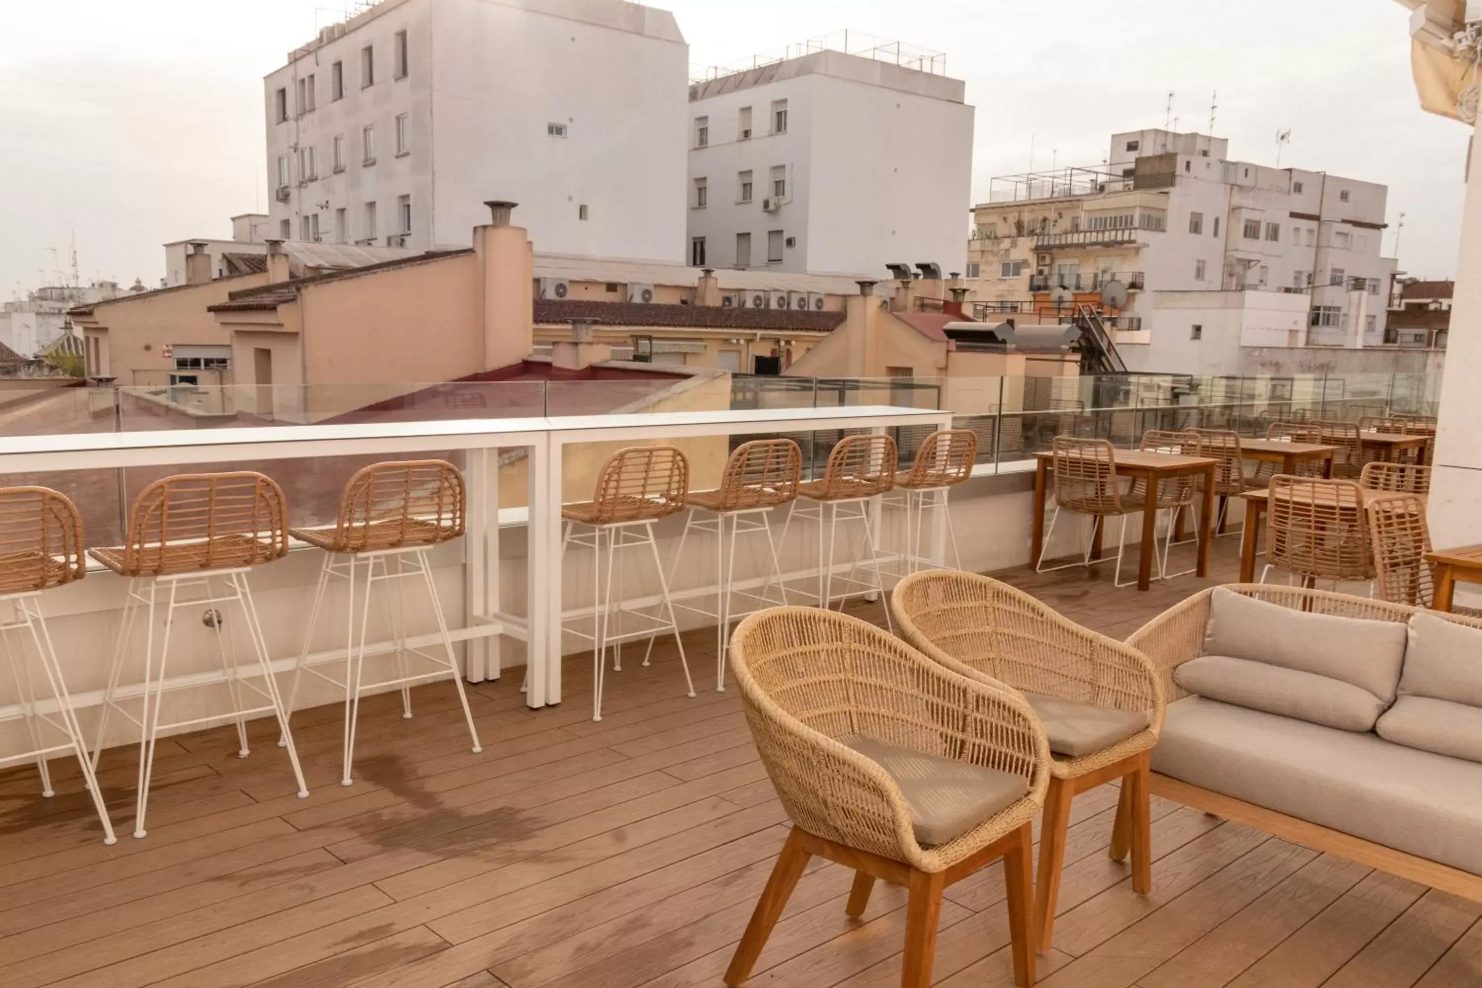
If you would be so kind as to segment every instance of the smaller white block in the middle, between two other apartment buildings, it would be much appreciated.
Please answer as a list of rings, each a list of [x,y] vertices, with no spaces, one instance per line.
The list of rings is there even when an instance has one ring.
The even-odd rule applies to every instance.
[[[691,86],[691,265],[962,271],[974,108],[940,56],[917,70],[879,61],[885,50],[818,50]]]

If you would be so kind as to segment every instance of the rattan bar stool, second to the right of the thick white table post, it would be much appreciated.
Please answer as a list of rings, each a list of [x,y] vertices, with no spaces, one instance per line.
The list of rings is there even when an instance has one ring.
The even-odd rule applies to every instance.
[[[685,532],[679,536],[679,550],[668,575],[674,587],[680,563],[685,560],[685,545],[691,532],[716,536],[716,609],[705,610],[695,604],[677,603],[680,610],[702,615],[716,622],[716,690],[726,689],[726,641],[731,638],[731,622],[744,618],[760,607],[787,603],[787,588],[782,584],[782,566],[777,555],[777,541],[772,538],[772,508],[797,499],[797,484],[802,480],[803,450],[790,438],[759,438],[742,443],[726,461],[720,486],[714,490],[692,490],[686,498],[689,517]],[[704,514],[701,514],[704,513]],[[729,539],[726,532],[729,530]],[[735,585],[737,536],[766,536],[766,581],[762,593],[738,590]],[[781,600],[768,594],[777,581]],[[735,597],[745,597],[756,606],[735,609]],[[652,647],[649,638],[649,647]]]

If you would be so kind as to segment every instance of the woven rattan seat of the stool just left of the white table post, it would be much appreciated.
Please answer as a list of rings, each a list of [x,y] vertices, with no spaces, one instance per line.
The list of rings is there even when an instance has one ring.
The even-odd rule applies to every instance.
[[[373,464],[345,484],[335,542],[342,553],[436,545],[464,533],[462,473],[442,459]]]

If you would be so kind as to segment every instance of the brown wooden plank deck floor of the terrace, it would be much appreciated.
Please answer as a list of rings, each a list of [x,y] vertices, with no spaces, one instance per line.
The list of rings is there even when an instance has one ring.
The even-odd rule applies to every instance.
[[[1220,545],[1218,576],[1235,566]],[[1110,573],[1006,575],[1064,613],[1125,635],[1202,585],[1112,590]],[[879,615],[879,609],[860,613]],[[785,834],[737,693],[717,693],[713,638],[688,640],[701,693],[665,652],[609,674],[588,720],[590,665],[566,702],[529,711],[519,675],[476,687],[485,752],[452,689],[416,717],[368,701],[357,782],[338,785],[339,710],[295,735],[311,795],[293,797],[265,723],[236,757],[225,730],[162,744],[150,835],[127,835],[133,758],[104,758],[119,844],[76,778],[52,800],[0,776],[0,984],[130,988],[634,988],[720,985]],[[701,681],[704,686],[701,686]],[[61,770],[58,763],[58,770]],[[1107,859],[1116,792],[1073,810],[1046,988],[1463,988],[1482,984],[1482,905],[1369,872],[1212,816],[1154,803],[1154,890]],[[898,984],[900,890],[845,917],[851,874],[814,862],[750,984]],[[953,886],[937,981],[1011,984],[1002,875]]]

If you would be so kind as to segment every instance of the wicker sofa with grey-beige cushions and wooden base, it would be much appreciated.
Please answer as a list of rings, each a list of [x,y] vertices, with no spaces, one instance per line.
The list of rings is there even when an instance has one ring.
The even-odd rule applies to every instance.
[[[1232,585],[1128,644],[1169,701],[1154,794],[1482,901],[1482,621]]]

